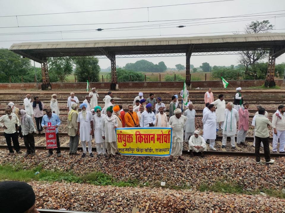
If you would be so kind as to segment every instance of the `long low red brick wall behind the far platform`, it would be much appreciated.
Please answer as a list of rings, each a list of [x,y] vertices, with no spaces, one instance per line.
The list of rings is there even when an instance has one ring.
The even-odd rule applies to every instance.
[[[260,86],[264,84],[264,80],[228,80],[228,82],[233,87],[251,87]],[[276,85],[280,86],[283,80],[275,80]],[[86,82],[76,82],[76,83],[51,83],[52,89],[85,89]],[[90,87],[96,87],[101,89],[110,89],[110,82],[91,82]],[[215,81],[192,81],[191,88],[222,88],[223,83],[221,80]],[[41,84],[36,83],[0,83],[0,90],[4,89],[41,89]],[[183,88],[183,81],[147,81],[147,82],[120,82],[119,88],[144,88],[152,89],[158,88],[163,90],[163,88]]]

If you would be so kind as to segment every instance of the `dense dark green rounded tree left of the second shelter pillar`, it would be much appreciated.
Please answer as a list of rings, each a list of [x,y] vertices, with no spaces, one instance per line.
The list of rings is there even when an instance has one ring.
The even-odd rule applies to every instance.
[[[99,81],[100,66],[99,60],[94,56],[83,56],[80,59],[73,59],[75,67],[75,76],[79,82],[86,82],[88,76],[90,82]]]

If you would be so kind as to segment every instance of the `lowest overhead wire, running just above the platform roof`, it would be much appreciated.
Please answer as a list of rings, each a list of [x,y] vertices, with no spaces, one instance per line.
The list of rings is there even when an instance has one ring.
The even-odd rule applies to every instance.
[[[272,29],[272,30],[285,30],[282,29]],[[10,40],[10,41],[49,41],[49,40],[71,40],[71,39],[105,39],[105,38],[135,38],[135,37],[150,37],[150,36],[170,36],[170,35],[198,35],[198,34],[214,34],[214,33],[241,33],[246,31],[225,31],[225,32],[208,32],[208,33],[185,33],[185,34],[164,34],[164,35],[138,35],[138,36],[120,36],[120,37],[96,37],[96,38],[52,38],[52,39],[33,39],[33,40]],[[6,41],[0,41],[6,42]]]

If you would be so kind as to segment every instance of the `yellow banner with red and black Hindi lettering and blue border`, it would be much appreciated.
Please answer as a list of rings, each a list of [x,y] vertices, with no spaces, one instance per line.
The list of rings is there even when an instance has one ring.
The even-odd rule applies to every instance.
[[[122,155],[169,156],[171,153],[171,128],[117,128],[116,134],[118,151]]]

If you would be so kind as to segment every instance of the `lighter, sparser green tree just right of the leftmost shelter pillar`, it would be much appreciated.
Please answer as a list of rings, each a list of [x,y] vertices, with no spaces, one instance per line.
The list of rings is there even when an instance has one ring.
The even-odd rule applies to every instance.
[[[73,62],[71,57],[50,57],[48,58],[49,73],[57,76],[60,82],[72,74]]]

